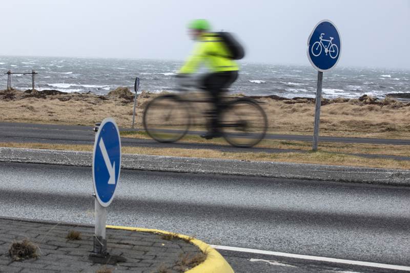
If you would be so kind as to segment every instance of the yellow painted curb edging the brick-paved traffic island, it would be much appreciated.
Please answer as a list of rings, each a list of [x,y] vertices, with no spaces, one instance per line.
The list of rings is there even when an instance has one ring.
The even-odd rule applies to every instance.
[[[153,230],[153,229],[141,229],[140,227],[107,225],[107,229],[126,230],[126,231],[139,231],[139,232],[151,232],[162,234],[174,234],[168,231]],[[188,273],[234,273],[234,270],[229,263],[219,254],[213,247],[202,242],[198,239],[192,239],[187,235],[176,234],[179,238],[190,240],[191,243],[201,249],[203,253],[207,254],[207,259],[201,264],[186,271]]]

